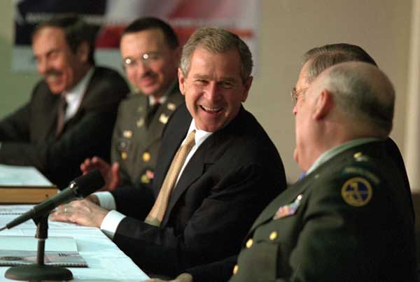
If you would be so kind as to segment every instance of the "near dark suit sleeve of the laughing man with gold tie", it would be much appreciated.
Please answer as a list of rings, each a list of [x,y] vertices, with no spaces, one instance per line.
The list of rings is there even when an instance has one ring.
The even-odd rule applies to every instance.
[[[278,192],[269,183],[272,178],[266,169],[246,164],[224,171],[223,179],[180,234],[172,227],[153,227],[127,217],[118,226],[114,241],[142,269],[166,275],[233,255],[253,220]]]

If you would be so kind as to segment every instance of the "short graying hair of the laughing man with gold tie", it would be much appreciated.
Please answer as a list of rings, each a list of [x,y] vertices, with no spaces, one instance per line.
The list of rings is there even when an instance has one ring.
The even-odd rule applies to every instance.
[[[180,68],[183,76],[187,77],[190,71],[191,57],[198,48],[205,48],[210,52],[226,52],[237,50],[241,58],[241,79],[246,83],[252,71],[252,55],[248,45],[236,34],[230,31],[214,27],[202,27],[196,29],[183,46]]]

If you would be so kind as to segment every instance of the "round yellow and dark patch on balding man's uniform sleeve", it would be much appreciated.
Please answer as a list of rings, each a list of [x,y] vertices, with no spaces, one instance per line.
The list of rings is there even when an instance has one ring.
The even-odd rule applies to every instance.
[[[365,206],[372,199],[372,186],[365,178],[353,177],[344,183],[341,194],[350,206]]]

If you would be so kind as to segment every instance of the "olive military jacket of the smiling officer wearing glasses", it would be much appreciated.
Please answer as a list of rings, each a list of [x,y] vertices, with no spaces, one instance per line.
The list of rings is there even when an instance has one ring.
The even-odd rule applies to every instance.
[[[165,103],[160,104],[151,117],[153,106],[148,97],[141,93],[130,94],[118,108],[118,118],[113,130],[111,161],[120,163],[123,185],[150,183],[146,171],[154,171],[160,137],[163,129],[176,108],[183,103],[178,83],[167,91]]]

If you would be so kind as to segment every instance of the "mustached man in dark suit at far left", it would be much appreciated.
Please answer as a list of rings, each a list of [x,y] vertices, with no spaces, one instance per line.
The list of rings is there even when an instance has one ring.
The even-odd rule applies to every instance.
[[[128,87],[116,71],[94,66],[94,34],[78,17],[39,24],[32,50],[43,79],[25,105],[0,121],[0,163],[34,166],[64,188],[86,157],[109,159]]]

